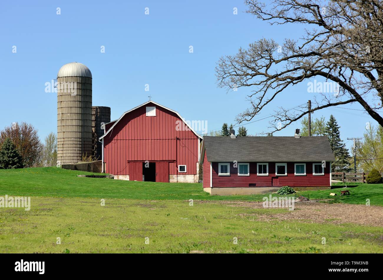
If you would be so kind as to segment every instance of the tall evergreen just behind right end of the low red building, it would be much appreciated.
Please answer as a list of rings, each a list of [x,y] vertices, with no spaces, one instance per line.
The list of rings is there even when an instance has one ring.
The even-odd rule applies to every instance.
[[[330,116],[326,124],[326,135],[329,138],[330,146],[334,152],[335,160],[332,163],[333,172],[349,172],[350,168],[348,159],[350,158],[349,151],[346,145],[340,139],[339,125],[334,116]]]

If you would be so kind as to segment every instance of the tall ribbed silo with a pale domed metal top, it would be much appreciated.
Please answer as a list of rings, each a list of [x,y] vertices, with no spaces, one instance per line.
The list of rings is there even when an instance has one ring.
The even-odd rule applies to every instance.
[[[57,164],[92,155],[92,73],[78,62],[57,74]]]

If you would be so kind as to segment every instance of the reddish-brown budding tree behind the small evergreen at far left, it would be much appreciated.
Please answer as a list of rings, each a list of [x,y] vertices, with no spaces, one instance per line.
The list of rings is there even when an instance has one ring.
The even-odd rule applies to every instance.
[[[5,139],[10,138],[15,144],[24,167],[35,166],[39,162],[43,145],[40,142],[37,130],[31,124],[14,122],[10,127],[5,127],[0,132],[0,145]]]

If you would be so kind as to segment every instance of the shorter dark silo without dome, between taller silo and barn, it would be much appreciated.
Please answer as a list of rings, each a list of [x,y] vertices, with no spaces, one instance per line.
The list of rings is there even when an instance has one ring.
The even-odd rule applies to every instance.
[[[104,129],[101,124],[110,122],[110,107],[105,106],[92,106],[92,152],[95,158],[101,160],[102,145],[98,142],[104,134]]]

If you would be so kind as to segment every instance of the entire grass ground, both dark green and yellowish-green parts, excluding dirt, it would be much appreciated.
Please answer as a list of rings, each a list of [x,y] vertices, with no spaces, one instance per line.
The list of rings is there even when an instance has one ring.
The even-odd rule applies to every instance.
[[[333,218],[336,214],[321,222],[315,219],[334,205],[314,203],[314,215],[298,219],[285,208],[254,207],[252,201],[267,194],[210,196],[201,184],[77,174],[85,173],[55,167],[0,170],[0,196],[31,197],[29,211],[0,208],[0,253],[383,252],[381,226],[343,223]],[[382,189],[383,184],[364,184],[350,188],[354,193],[347,197],[329,197],[340,189],[294,196],[362,205],[368,198],[371,205],[382,205]],[[306,211],[297,205],[295,213]]]

